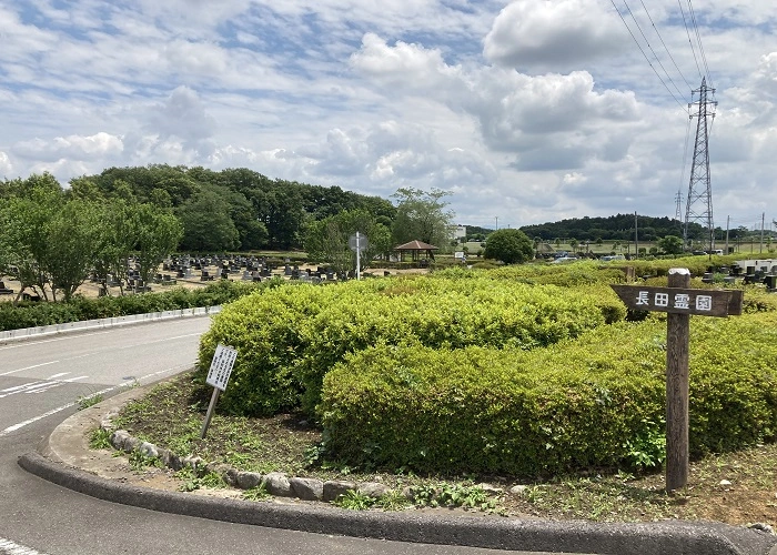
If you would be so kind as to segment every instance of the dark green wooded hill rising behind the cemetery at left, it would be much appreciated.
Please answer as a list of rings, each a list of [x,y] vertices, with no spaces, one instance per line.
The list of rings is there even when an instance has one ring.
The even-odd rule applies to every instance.
[[[78,198],[118,196],[172,208],[184,228],[183,251],[297,249],[311,220],[364,210],[390,226],[396,213],[391,201],[379,196],[273,180],[248,169],[110,168],[70,184]]]

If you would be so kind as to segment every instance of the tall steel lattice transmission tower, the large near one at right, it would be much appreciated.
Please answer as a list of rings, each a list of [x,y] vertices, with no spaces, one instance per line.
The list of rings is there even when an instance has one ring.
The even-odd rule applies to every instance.
[[[690,183],[688,185],[688,200],[685,204],[685,226],[683,239],[688,243],[688,224],[700,223],[707,230],[709,249],[715,248],[715,225],[713,223],[713,189],[709,184],[709,129],[715,118],[717,102],[708,100],[708,94],[715,93],[715,89],[707,87],[707,79],[702,78],[702,87],[693,91],[699,94],[696,102],[688,108],[696,107],[690,118],[697,118],[696,143],[694,144],[694,161],[690,165]]]

